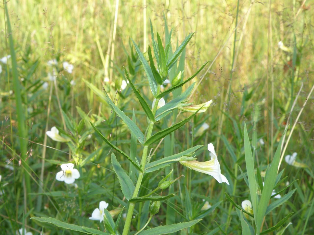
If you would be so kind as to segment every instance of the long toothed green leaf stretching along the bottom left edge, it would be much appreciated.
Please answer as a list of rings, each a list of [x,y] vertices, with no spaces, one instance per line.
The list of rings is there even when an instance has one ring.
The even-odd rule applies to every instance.
[[[109,235],[109,233],[107,233],[107,232],[102,232],[102,231],[94,229],[94,228],[88,228],[88,227],[84,227],[84,226],[78,226],[75,224],[65,223],[65,222],[62,222],[60,220],[57,220],[57,219],[51,218],[51,217],[31,217],[31,219],[37,220],[39,222],[51,223],[53,225],[56,225],[57,227],[69,229],[72,231],[82,232],[85,234]]]

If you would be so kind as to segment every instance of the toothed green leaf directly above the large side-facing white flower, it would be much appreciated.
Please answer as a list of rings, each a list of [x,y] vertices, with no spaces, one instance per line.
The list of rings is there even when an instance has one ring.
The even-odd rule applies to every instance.
[[[145,167],[145,173],[159,170],[159,169],[164,168],[164,167],[166,167],[166,166],[168,166],[174,162],[178,162],[178,161],[180,161],[181,157],[183,157],[183,156],[189,157],[190,160],[195,160],[195,158],[192,158],[190,156],[192,156],[195,153],[195,151],[198,150],[199,148],[201,148],[202,146],[203,145],[196,145],[196,146],[189,148],[189,149],[187,149],[181,153],[174,154],[174,155],[159,159],[159,160],[154,161],[154,162],[150,162]]]

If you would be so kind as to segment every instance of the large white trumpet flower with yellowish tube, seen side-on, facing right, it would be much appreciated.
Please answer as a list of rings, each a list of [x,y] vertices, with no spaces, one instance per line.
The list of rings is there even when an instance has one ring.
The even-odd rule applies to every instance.
[[[227,178],[220,173],[220,165],[215,153],[214,145],[212,143],[208,144],[208,151],[210,152],[211,159],[207,162],[182,160],[180,163],[192,170],[213,176],[219,183],[225,182],[227,185],[229,185]]]

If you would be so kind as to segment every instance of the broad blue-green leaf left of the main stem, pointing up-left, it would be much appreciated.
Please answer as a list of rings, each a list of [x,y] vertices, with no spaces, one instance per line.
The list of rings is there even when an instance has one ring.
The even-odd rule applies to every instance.
[[[130,200],[132,198],[135,186],[132,180],[130,179],[130,177],[127,175],[127,173],[125,173],[125,171],[122,169],[122,167],[118,163],[114,153],[111,153],[111,164],[112,164],[113,170],[118,176],[123,195],[125,196],[127,200]]]

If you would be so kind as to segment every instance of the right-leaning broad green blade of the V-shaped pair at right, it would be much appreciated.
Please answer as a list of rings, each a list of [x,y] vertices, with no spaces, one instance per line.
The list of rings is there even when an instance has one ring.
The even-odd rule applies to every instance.
[[[265,185],[263,187],[262,196],[258,205],[257,224],[256,224],[257,230],[260,230],[262,226],[263,218],[265,216],[265,212],[267,210],[268,203],[269,203],[270,197],[273,192],[273,188],[276,183],[277,171],[278,171],[278,165],[279,165],[280,153],[281,153],[281,142],[282,142],[283,137],[284,137],[284,134],[279,141],[278,147],[273,157],[273,161],[271,162],[270,167],[265,174],[266,175]]]

